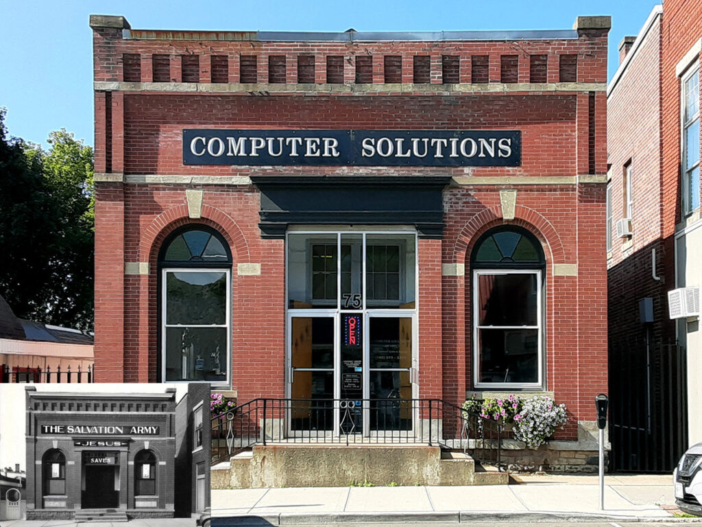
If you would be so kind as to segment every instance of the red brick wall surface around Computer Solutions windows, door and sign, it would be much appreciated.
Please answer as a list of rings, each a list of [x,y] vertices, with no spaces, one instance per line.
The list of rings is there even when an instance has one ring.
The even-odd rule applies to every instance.
[[[607,387],[600,226],[608,20],[578,18],[566,37],[543,39],[340,43],[140,31],[119,17],[95,17],[98,381],[159,380],[157,255],[174,228],[199,222],[223,235],[233,257],[232,388],[240,402],[284,397],[285,243],[262,237],[260,190],[249,178],[450,175],[443,236],[418,240],[418,395],[461,403],[472,389],[470,251],[490,227],[522,226],[536,235],[546,256],[543,390],[567,405],[572,419],[562,438],[576,439],[576,424],[595,420],[592,398]],[[191,54],[199,56],[199,82],[183,82],[181,56]],[[156,55],[171,58],[168,83],[154,82]],[[140,82],[132,80],[133,56],[140,56]],[[249,56],[256,57],[255,71]],[[298,74],[309,80],[308,56],[314,57],[316,84],[297,84]],[[337,56],[340,65],[328,60]],[[372,57],[372,74],[368,60],[355,70],[357,56]],[[425,56],[430,82],[418,84],[426,65],[415,59]],[[539,57],[542,69],[546,59],[541,84],[534,82],[543,81],[536,73],[530,82],[531,56]],[[487,82],[472,84],[476,60],[483,57]],[[455,80],[456,65],[460,82],[444,84],[442,72]],[[342,72],[334,70],[339,67]],[[220,79],[226,70],[229,84],[212,84],[215,70]],[[248,81],[255,74],[256,83],[240,84],[244,74]],[[372,83],[355,84],[369,77]],[[388,77],[401,82],[385,84]],[[512,129],[522,133],[522,161],[518,167],[465,168],[185,166],[185,128]],[[190,217],[188,189],[203,191],[199,218]],[[516,191],[513,215],[504,212],[504,190]],[[237,273],[241,263],[260,264],[260,274]],[[126,264],[140,264],[143,272],[125,274]]]

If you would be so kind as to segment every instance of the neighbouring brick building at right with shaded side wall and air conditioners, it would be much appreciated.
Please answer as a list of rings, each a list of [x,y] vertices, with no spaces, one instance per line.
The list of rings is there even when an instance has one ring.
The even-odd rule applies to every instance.
[[[702,399],[701,15],[702,6],[689,2],[656,6],[637,37],[622,41],[607,90],[616,469],[670,472],[687,446],[702,440],[699,412],[688,411]]]

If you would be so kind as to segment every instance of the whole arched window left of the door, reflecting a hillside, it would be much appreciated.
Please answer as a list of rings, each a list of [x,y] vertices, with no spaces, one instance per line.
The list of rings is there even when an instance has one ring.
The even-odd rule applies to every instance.
[[[173,232],[159,254],[161,381],[229,383],[232,253],[216,230]]]

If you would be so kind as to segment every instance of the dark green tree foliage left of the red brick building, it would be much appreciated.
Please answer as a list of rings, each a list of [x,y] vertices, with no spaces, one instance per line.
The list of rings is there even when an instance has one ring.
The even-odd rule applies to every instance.
[[[8,135],[0,108],[0,294],[20,318],[93,327],[93,151]]]

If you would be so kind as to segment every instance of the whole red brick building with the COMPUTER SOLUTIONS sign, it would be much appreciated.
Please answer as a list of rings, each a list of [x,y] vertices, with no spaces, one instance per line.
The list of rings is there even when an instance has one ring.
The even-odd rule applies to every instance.
[[[93,15],[98,381],[260,396],[607,391],[609,17],[132,30]],[[581,434],[578,434],[581,423]]]

